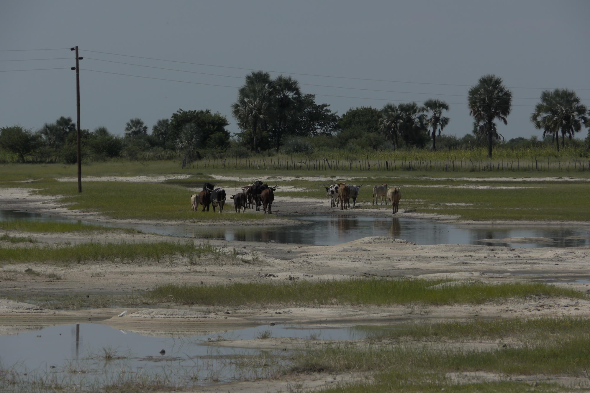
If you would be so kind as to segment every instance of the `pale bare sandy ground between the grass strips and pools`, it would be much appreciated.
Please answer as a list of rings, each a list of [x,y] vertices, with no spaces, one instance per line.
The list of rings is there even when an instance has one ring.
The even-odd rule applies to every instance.
[[[221,180],[221,176],[218,176]],[[112,180],[112,178],[109,178]],[[155,181],[137,179],[137,181]],[[165,179],[165,178],[161,178]],[[103,179],[101,179],[103,180]],[[224,178],[223,180],[228,180]],[[232,179],[233,180],[233,179]],[[273,179],[263,179],[271,182]],[[314,178],[317,180],[317,178]],[[325,179],[330,181],[329,178]],[[537,180],[537,179],[536,179]],[[240,179],[241,181],[241,179]],[[232,192],[234,190],[230,190]],[[22,209],[30,212],[44,212],[62,217],[75,217],[93,222],[107,222],[107,218],[87,212],[71,211],[55,202],[51,196],[31,194],[31,189],[0,188],[0,208]],[[391,215],[390,207],[382,209],[332,209],[324,199],[281,197],[277,192],[274,206],[277,214],[355,214],[384,217]],[[400,210],[401,217],[424,218],[455,222],[455,217],[414,214]],[[281,224],[282,219],[268,222]],[[284,221],[284,220],[283,220]],[[130,222],[130,221],[128,221]],[[180,225],[179,222],[159,222],[161,225]],[[186,224],[186,223],[183,223]],[[485,226],[485,222],[464,222],[466,225]],[[514,222],[513,224],[522,224]],[[535,222],[537,225],[566,224],[564,222]],[[588,222],[572,222],[585,226]],[[590,228],[590,227],[589,227]],[[96,232],[87,234],[31,234],[8,231],[10,235],[35,237],[49,244],[69,242],[71,244],[89,241],[101,243],[186,241],[186,238],[162,237],[150,234],[121,234]],[[194,239],[195,243],[201,240]],[[491,241],[491,240],[490,240]],[[514,239],[530,243],[530,239]],[[543,239],[536,241],[542,242]],[[149,290],[159,284],[187,283],[210,284],[231,283],[232,281],[285,282],[288,280],[326,280],[361,277],[408,277],[408,278],[449,278],[476,282],[506,282],[539,280],[555,283],[581,291],[590,290],[590,248],[510,248],[486,245],[419,245],[390,237],[369,237],[349,243],[317,246],[280,243],[249,243],[240,241],[211,241],[212,244],[228,251],[227,256],[218,258],[202,257],[198,261],[175,258],[165,263],[141,261],[104,261],[100,263],[68,264],[12,264],[0,267],[0,297],[2,294],[23,294],[51,296],[71,294],[73,296],[100,296],[101,294],[129,295]],[[1,245],[10,245],[0,241]],[[25,247],[16,244],[14,247]],[[237,257],[231,250],[237,250]],[[25,269],[34,268],[39,276],[26,274]],[[60,279],[48,278],[57,274]],[[127,307],[120,309],[94,309],[83,311],[54,311],[28,303],[0,300],[0,334],[10,335],[31,329],[40,329],[64,323],[95,322],[118,329],[141,332],[145,335],[167,336],[196,335],[221,332],[264,324],[294,324],[325,327],[354,325],[390,325],[407,323],[412,320],[449,320],[483,318],[513,318],[535,316],[590,316],[590,302],[574,299],[528,299],[507,301],[501,304],[453,305],[442,307],[391,306],[391,307],[230,307],[215,308],[180,306],[173,299],[159,304],[156,308]],[[126,311],[126,315],[118,317]],[[319,343],[318,345],[320,345]],[[238,348],[294,348],[297,340],[231,340],[211,345]],[[461,344],[463,346],[467,343]],[[471,344],[473,345],[473,344]],[[481,343],[482,349],[497,343]],[[485,378],[484,378],[485,377]],[[500,376],[478,376],[494,379]],[[295,378],[295,377],[293,377]],[[355,375],[336,376],[336,380],[359,378]],[[475,376],[462,373],[456,376],[468,381]],[[529,378],[529,377],[527,377]],[[527,379],[529,380],[529,379]],[[538,380],[538,379],[537,379]],[[236,382],[221,387],[210,387],[200,391],[260,392],[287,391],[292,384],[303,384],[316,388],[335,381],[326,375],[298,376],[295,379],[277,381]]]

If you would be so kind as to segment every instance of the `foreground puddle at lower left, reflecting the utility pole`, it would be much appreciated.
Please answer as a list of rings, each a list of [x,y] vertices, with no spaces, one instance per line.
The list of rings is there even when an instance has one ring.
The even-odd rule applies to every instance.
[[[136,378],[139,373],[143,376],[165,375],[169,383],[182,386],[207,385],[267,376],[265,373],[273,368],[269,363],[270,356],[278,355],[278,359],[282,359],[289,351],[202,345],[209,340],[257,339],[265,332],[269,332],[271,338],[318,340],[349,340],[368,336],[363,330],[348,327],[319,329],[276,325],[209,335],[185,336],[183,333],[182,336],[157,337],[85,323],[0,336],[0,363],[20,378],[50,376],[53,381],[86,388]],[[160,353],[162,350],[165,351],[163,355]],[[249,367],[244,367],[244,359],[250,359],[247,362]],[[264,361],[257,365],[257,361],[261,360]],[[278,366],[278,363],[274,365]]]

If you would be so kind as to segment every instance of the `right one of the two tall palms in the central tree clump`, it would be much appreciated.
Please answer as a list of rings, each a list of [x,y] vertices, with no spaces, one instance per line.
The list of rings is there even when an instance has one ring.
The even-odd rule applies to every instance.
[[[299,82],[293,78],[279,75],[273,81],[273,106],[276,114],[276,150],[280,146],[281,136],[283,135],[283,126],[287,123],[287,117],[297,114],[303,109],[303,97]]]

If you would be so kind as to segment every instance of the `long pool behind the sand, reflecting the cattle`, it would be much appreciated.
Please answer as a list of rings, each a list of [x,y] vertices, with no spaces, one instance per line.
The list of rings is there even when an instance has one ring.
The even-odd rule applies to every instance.
[[[373,218],[352,215],[294,215],[303,225],[284,227],[200,227],[195,225],[122,225],[144,232],[206,239],[332,245],[368,236],[391,236],[417,244],[486,244],[510,247],[590,247],[587,228],[571,225],[540,227],[490,225],[486,228],[441,224],[410,218]],[[1,220],[80,222],[47,214],[0,209]],[[91,224],[89,222],[89,224]]]

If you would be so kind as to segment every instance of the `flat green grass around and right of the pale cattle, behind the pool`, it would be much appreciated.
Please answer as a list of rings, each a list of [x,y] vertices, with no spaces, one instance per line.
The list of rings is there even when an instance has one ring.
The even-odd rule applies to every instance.
[[[336,178],[337,179],[337,178]],[[331,182],[336,182],[331,181]],[[355,178],[350,184],[363,184],[356,199],[360,208],[372,206],[375,184],[401,186],[400,211],[414,211],[457,215],[463,220],[543,220],[543,221],[590,221],[590,182],[588,181],[466,181],[460,179],[425,178]],[[329,183],[329,182],[326,182]],[[302,188],[303,191],[276,192],[291,197],[326,198],[325,189],[319,182],[288,181],[281,185]],[[491,188],[455,188],[463,186],[489,186]],[[504,188],[503,188],[504,187]],[[518,187],[518,188],[505,188]],[[564,198],[564,195],[568,195]],[[446,205],[466,204],[466,205]],[[357,205],[359,206],[359,205]],[[385,207],[385,205],[383,205]],[[391,205],[389,205],[391,208]]]

